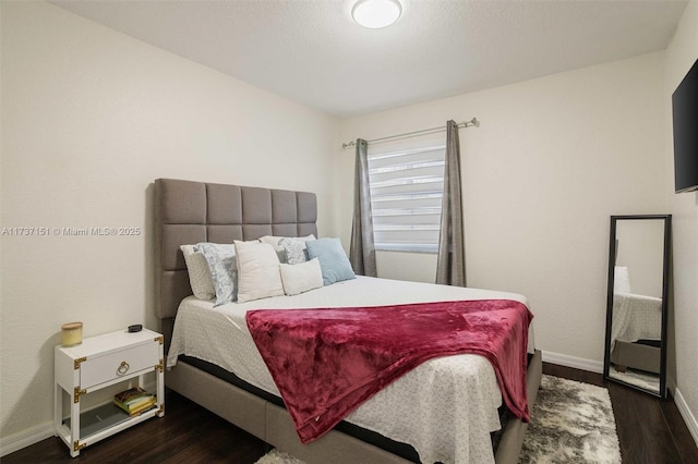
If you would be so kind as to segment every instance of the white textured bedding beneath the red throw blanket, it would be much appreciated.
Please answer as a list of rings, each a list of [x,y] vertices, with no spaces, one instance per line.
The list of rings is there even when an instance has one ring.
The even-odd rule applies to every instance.
[[[505,292],[358,277],[294,296],[213,307],[190,296],[179,306],[167,366],[180,354],[234,373],[279,395],[245,323],[249,309],[381,306],[457,300],[514,300]],[[529,330],[529,352],[534,347]],[[423,463],[493,463],[490,432],[501,428],[502,394],[479,355],[431,359],[400,377],[345,420],[411,444]]]

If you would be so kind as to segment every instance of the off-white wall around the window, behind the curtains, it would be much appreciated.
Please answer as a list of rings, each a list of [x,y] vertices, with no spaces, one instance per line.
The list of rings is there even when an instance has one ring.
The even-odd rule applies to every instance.
[[[460,130],[468,285],[527,295],[540,349],[601,366],[610,216],[669,212],[662,69],[658,52],[353,118],[341,139],[478,117]],[[338,151],[346,243],[352,166]],[[381,276],[411,266],[382,258]]]

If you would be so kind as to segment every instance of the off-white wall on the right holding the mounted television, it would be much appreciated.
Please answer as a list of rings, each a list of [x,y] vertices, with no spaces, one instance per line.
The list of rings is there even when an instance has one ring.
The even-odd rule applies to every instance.
[[[676,404],[698,443],[698,193],[674,194],[671,95],[698,59],[698,2],[690,1],[665,53],[665,163],[673,215]],[[672,356],[673,358],[673,356]],[[691,420],[693,419],[693,420]]]

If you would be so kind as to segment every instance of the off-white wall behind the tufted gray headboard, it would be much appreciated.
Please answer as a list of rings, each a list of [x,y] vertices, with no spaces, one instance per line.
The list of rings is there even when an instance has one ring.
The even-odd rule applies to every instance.
[[[4,440],[50,424],[61,323],[155,326],[156,178],[316,192],[333,235],[338,123],[53,5],[1,4],[1,227],[141,229],[1,236]]]

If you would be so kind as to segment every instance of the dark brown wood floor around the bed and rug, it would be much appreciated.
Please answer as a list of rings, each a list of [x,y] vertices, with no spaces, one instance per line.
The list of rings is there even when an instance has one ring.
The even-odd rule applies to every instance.
[[[545,374],[603,386],[599,374],[543,364]],[[625,464],[698,464],[698,448],[673,401],[659,401],[614,383],[606,384]],[[167,391],[166,415],[127,429],[71,459],[56,437],[2,457],[25,463],[213,463],[252,464],[267,447],[261,440]]]

